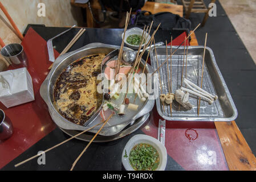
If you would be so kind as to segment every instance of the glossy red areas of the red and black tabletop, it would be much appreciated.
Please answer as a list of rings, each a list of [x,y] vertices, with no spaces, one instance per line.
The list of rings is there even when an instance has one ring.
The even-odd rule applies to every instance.
[[[180,45],[184,37],[185,33],[173,40],[173,46]],[[48,61],[46,41],[30,28],[22,45],[29,60],[27,69],[32,77],[35,101],[9,109],[0,103],[0,108],[5,111],[14,126],[13,136],[0,142],[0,168],[56,127],[48,113],[47,105],[39,93],[40,85],[46,78],[48,67],[51,65],[51,62]],[[59,53],[55,51],[55,57],[58,55]],[[141,130],[145,134],[157,138],[159,119],[160,116],[154,107],[151,121]],[[196,140],[189,140],[186,137],[187,129],[196,130],[198,134]],[[196,133],[193,132],[189,134],[195,137]],[[165,147],[168,155],[185,170],[228,170],[213,122],[166,121]]]

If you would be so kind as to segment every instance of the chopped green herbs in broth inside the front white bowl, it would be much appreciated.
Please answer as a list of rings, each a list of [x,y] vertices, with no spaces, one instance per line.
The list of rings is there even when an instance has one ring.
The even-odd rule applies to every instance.
[[[139,171],[154,171],[159,166],[159,153],[145,143],[137,144],[129,154],[129,162],[133,169]]]

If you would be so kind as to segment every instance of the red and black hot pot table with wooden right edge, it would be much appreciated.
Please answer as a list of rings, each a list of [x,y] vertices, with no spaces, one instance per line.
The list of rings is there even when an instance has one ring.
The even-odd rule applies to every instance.
[[[69,138],[52,121],[47,105],[39,94],[40,85],[48,74],[46,42],[67,28],[31,25],[27,27],[22,45],[27,53],[28,70],[34,84],[35,101],[7,109],[0,104],[14,125],[11,138],[0,142],[1,170],[69,170],[88,142],[72,139],[46,153],[46,164],[39,165],[33,159],[15,168],[14,165],[38,154]],[[55,39],[55,57],[74,37],[79,28]],[[87,28],[74,44],[74,51],[89,43],[100,42],[119,46],[122,29]],[[184,40],[182,31],[161,31],[155,36],[156,42],[170,42],[173,45]],[[197,45],[193,35],[190,42]],[[12,69],[11,67],[9,69]],[[148,121],[140,129],[123,138],[105,143],[92,143],[76,164],[77,170],[124,170],[121,154],[128,140],[136,134],[157,138],[160,116],[153,108]],[[190,139],[189,139],[190,138]],[[191,140],[194,138],[194,140]],[[166,121],[165,147],[168,162],[165,170],[250,170],[255,169],[255,157],[240,133],[235,122],[179,122]]]

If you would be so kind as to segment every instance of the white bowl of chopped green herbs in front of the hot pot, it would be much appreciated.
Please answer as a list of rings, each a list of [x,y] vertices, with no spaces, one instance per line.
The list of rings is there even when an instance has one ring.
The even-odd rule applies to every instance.
[[[127,171],[164,171],[166,148],[153,137],[135,135],[124,147],[122,163]]]

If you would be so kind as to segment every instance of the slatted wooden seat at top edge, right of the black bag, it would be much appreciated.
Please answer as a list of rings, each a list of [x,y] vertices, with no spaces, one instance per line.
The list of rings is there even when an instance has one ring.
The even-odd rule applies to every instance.
[[[206,7],[204,0],[181,0],[185,8],[185,18],[188,19],[191,13],[205,13],[202,20],[202,26],[205,26],[206,20],[209,18],[210,8]],[[210,3],[214,3],[216,0],[212,0]]]

